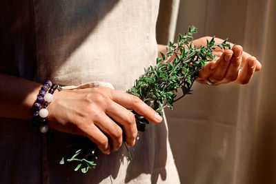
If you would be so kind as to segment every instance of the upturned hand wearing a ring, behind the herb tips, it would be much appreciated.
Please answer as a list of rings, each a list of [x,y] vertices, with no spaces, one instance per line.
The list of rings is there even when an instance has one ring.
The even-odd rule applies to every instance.
[[[202,37],[193,41],[194,45],[205,45],[206,39],[212,37]],[[224,40],[215,38],[215,43],[222,43]],[[233,44],[230,43],[231,47]],[[235,82],[246,84],[252,78],[254,72],[261,70],[262,65],[255,57],[243,52],[242,46],[235,45],[231,50],[221,50],[216,48],[214,54],[217,54],[215,61],[210,61],[199,71],[197,81],[199,83],[221,83]],[[239,69],[241,70],[239,71]]]

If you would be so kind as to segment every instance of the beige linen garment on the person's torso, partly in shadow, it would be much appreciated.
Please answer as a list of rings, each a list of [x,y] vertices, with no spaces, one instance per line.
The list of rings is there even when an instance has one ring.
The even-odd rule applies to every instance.
[[[126,91],[155,64],[159,1],[6,0],[1,10],[0,72],[63,86],[108,85]],[[30,121],[0,119],[1,183],[179,183],[166,119],[126,148],[100,154],[95,170],[59,165],[72,135],[46,142]],[[41,156],[41,150],[43,154]]]

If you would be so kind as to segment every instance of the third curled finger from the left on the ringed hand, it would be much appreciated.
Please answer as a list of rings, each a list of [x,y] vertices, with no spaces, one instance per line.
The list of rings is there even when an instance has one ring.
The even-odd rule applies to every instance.
[[[246,62],[244,63],[244,67],[242,68],[241,72],[239,72],[239,76],[236,83],[246,84],[252,78],[255,68],[257,65],[257,59],[255,57],[248,57]]]

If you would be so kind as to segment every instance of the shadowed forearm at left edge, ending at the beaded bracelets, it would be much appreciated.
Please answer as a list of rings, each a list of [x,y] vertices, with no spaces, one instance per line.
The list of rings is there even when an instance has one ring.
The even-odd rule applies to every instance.
[[[0,73],[0,117],[32,119],[32,105],[41,84]]]

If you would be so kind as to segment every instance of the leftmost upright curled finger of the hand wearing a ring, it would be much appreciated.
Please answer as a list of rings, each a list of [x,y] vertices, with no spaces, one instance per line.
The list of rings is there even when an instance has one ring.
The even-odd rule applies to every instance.
[[[239,53],[241,54],[241,53]],[[224,79],[224,76],[226,74],[226,71],[228,69],[228,65],[230,64],[230,59],[233,55],[232,50],[226,50],[224,53],[221,55],[220,59],[217,61],[219,62],[217,64],[217,67],[215,68],[215,71],[213,74],[208,76],[208,79],[212,81],[213,83],[217,83]]]

